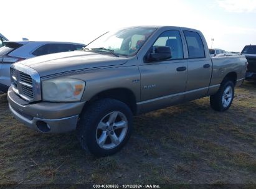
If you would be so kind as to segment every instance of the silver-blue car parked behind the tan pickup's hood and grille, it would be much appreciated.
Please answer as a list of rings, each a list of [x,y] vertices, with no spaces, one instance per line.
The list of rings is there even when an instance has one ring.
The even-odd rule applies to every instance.
[[[10,66],[12,63],[50,53],[78,50],[84,46],[84,44],[69,42],[4,42],[4,46],[0,48],[0,91],[6,93],[11,85]]]

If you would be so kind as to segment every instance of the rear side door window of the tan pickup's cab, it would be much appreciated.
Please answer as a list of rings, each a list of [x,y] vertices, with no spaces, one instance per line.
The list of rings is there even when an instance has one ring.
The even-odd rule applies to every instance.
[[[187,42],[187,50],[189,52],[189,58],[205,58],[204,44],[197,32],[184,30],[184,35]]]

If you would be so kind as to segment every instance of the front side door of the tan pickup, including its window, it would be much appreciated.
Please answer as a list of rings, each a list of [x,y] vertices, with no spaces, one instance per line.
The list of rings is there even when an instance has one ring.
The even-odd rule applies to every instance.
[[[187,60],[179,30],[168,30],[159,35],[156,46],[171,47],[172,57],[159,62],[139,65],[141,72],[141,111],[164,108],[184,100],[187,81]]]

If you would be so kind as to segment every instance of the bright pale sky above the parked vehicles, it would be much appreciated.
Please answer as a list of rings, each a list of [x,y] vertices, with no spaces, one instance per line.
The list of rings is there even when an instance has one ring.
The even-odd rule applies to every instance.
[[[174,25],[201,30],[209,48],[256,45],[256,0],[2,0],[0,7],[9,40],[88,44],[121,27]]]

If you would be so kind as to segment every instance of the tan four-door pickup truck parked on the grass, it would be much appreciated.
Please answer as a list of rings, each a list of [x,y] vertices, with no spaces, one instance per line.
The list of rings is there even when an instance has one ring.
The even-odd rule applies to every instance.
[[[76,129],[84,149],[105,156],[128,141],[133,115],[204,96],[216,111],[227,110],[246,66],[244,56],[211,58],[199,30],[128,27],[82,51],[14,63],[7,98],[28,127]]]

